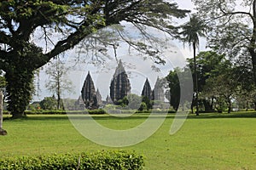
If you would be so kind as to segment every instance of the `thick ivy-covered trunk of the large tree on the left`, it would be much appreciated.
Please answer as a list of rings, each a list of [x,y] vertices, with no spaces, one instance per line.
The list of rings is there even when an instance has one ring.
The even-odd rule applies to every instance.
[[[31,100],[31,87],[33,72],[28,71],[26,65],[13,65],[6,71],[8,111],[12,118],[20,118],[25,115],[26,106]]]

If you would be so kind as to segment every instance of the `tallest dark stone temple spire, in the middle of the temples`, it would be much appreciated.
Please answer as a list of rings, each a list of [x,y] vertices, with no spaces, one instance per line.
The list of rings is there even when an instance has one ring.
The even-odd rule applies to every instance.
[[[110,84],[110,97],[113,103],[117,104],[119,99],[123,99],[130,93],[131,84],[120,59]]]

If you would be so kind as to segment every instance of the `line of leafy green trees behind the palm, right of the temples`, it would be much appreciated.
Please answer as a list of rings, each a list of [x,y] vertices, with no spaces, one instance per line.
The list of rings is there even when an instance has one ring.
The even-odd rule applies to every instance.
[[[195,72],[192,69],[194,60],[187,60],[189,64],[186,67],[176,68],[166,77],[170,87],[170,93],[166,95],[169,96],[170,104],[175,110],[179,105],[182,85],[177,73],[191,69],[195,79]],[[230,112],[232,108],[256,109],[256,88],[250,61],[235,59],[232,62],[224,54],[213,51],[201,52],[196,56],[196,61],[200,111]],[[195,107],[195,95],[193,97],[192,112]]]

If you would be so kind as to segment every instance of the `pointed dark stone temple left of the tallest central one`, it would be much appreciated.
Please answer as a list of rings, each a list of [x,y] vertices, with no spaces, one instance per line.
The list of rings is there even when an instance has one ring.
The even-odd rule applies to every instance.
[[[90,77],[90,71],[88,71],[87,77],[84,80],[84,85],[81,91],[82,99],[84,101],[85,108],[87,109],[97,109],[99,107],[99,101],[102,99],[99,91],[95,90],[94,82]]]

